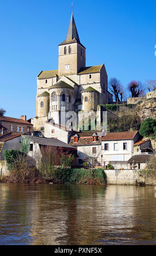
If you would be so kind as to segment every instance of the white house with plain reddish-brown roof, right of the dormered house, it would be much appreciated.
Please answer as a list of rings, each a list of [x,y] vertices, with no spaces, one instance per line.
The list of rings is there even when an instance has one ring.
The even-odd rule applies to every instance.
[[[104,166],[110,163],[115,169],[129,169],[128,160],[134,155],[134,144],[139,140],[138,131],[107,133],[101,139]]]

